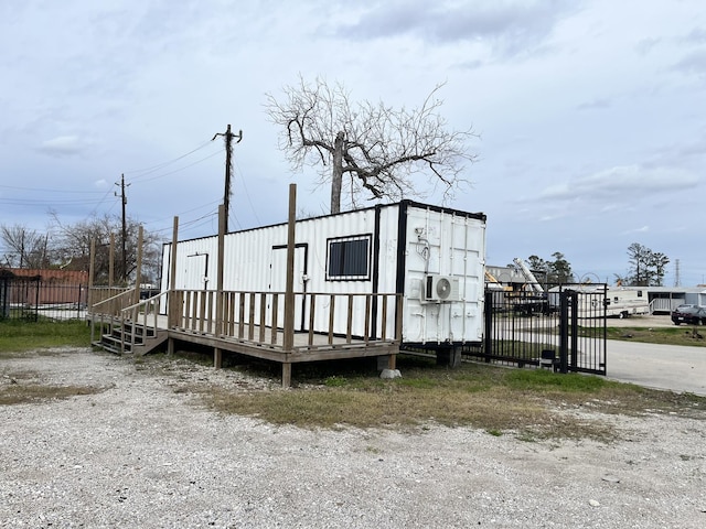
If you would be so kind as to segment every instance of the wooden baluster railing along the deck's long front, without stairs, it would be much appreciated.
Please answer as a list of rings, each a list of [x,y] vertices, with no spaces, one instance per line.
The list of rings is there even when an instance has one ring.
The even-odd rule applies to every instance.
[[[296,293],[292,330],[284,328],[282,292],[178,290],[172,295],[171,328],[199,334],[277,347],[285,332],[307,335],[295,348],[402,338],[400,294]]]

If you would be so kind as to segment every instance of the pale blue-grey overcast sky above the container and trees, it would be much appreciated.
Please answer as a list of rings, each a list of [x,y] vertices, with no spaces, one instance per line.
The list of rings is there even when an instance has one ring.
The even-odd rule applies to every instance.
[[[480,134],[447,205],[488,215],[489,264],[560,251],[612,282],[639,242],[670,257],[667,285],[677,260],[706,282],[703,0],[3,0],[0,45],[0,224],[119,215],[125,173],[147,230],[211,235],[228,123],[232,229],[284,222],[290,182],[324,214],[266,94],[301,75],[411,108],[445,83],[449,127]]]

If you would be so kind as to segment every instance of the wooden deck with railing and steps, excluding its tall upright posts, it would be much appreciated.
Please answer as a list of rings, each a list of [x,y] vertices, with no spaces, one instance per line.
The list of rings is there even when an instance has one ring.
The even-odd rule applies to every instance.
[[[94,303],[89,320],[103,337],[118,337],[113,339],[120,342],[120,352],[149,353],[140,339],[149,334],[162,336],[157,345],[165,336],[169,354],[178,343],[212,347],[216,368],[224,353],[279,363],[284,387],[291,382],[292,364],[374,356],[386,357],[394,369],[399,353],[402,298],[396,294],[299,294],[306,296],[297,304],[308,311],[306,331],[277,326],[281,293],[174,291],[170,301],[165,294],[132,303],[135,294],[120,292]],[[317,328],[317,317],[323,327]],[[359,326],[363,320],[362,328],[354,319]]]

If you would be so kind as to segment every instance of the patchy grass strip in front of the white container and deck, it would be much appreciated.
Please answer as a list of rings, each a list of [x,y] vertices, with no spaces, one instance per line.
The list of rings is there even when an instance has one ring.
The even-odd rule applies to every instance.
[[[463,364],[438,367],[434,360],[398,357],[403,378],[382,380],[361,361],[301,366],[289,390],[238,391],[208,382],[193,384],[212,409],[301,428],[425,429],[429,424],[473,427],[491,435],[525,441],[595,439],[610,441],[619,432],[601,412],[629,415],[677,413],[706,418],[706,398],[656,391],[584,375],[506,369]],[[315,366],[315,367],[314,367]],[[261,375],[270,376],[271,367]],[[256,368],[248,367],[257,376]],[[336,375],[332,375],[335,371]]]

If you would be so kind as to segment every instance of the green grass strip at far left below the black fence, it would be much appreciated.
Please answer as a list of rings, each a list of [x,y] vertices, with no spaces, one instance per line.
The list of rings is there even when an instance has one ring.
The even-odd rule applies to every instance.
[[[90,327],[86,322],[0,321],[0,359],[39,348],[88,347]]]

